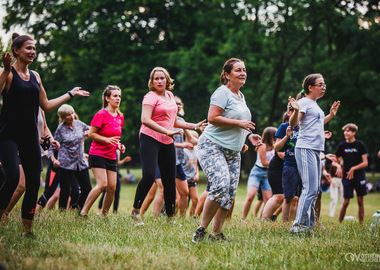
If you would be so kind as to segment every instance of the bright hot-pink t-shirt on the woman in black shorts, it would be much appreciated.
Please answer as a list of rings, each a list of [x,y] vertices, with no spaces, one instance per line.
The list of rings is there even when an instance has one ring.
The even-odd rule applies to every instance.
[[[97,133],[101,136],[120,137],[124,126],[124,116],[121,114],[112,116],[106,109],[102,109],[91,120],[91,126],[99,128]],[[117,145],[93,140],[89,154],[116,160],[116,149]]]

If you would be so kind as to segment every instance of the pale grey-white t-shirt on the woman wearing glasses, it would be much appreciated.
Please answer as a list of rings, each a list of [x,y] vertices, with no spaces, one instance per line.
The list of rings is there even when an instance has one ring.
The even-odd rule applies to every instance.
[[[299,122],[297,148],[325,150],[325,114],[315,100],[304,97],[297,101],[304,115]]]

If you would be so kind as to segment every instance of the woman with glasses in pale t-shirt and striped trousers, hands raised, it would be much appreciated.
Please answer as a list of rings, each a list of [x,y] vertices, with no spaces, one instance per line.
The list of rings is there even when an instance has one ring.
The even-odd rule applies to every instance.
[[[320,152],[324,151],[325,147],[324,125],[336,115],[340,106],[340,101],[335,101],[327,116],[318,106],[317,100],[323,97],[326,91],[321,74],[308,75],[302,88],[297,102],[289,97],[290,109],[294,109],[289,121],[290,126],[295,127],[299,123],[295,157],[302,179],[296,219],[290,230],[295,234],[308,232],[315,226],[314,206],[322,172]]]

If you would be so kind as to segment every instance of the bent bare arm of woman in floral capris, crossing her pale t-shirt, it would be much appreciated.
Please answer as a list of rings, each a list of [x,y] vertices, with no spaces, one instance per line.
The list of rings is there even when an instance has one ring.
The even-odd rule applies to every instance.
[[[230,119],[222,116],[223,109],[216,106],[210,105],[210,109],[208,111],[208,122],[218,127],[240,127],[249,132],[255,129],[255,123],[249,120],[238,120],[238,119]]]

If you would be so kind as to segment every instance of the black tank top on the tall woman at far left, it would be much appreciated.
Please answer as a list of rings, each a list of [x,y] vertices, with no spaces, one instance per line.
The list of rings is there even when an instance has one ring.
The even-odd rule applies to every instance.
[[[40,85],[29,70],[30,79],[24,81],[12,66],[10,88],[4,90],[0,115],[0,139],[38,139],[37,116]]]

